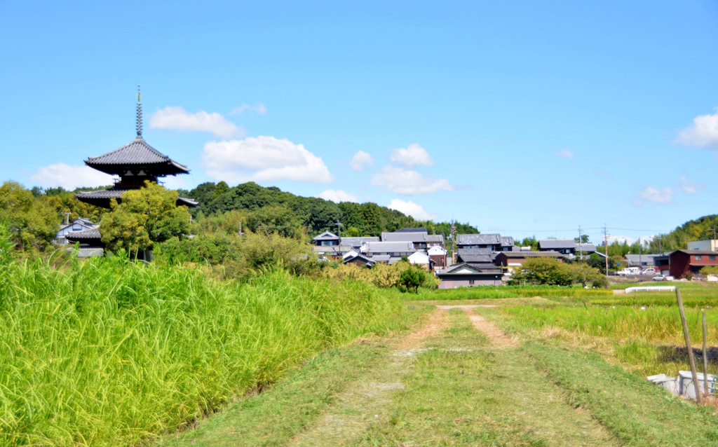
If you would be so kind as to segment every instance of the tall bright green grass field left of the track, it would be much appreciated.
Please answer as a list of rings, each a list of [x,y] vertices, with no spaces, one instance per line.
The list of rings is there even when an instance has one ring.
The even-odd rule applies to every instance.
[[[0,445],[135,445],[402,309],[394,291],[281,270],[239,285],[120,257],[0,263]]]

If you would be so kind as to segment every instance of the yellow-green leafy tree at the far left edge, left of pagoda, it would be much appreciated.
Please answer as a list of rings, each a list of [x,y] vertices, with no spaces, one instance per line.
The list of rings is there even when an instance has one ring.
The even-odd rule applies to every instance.
[[[19,248],[44,250],[55,239],[60,216],[21,184],[4,182],[0,187],[0,221],[7,222]]]

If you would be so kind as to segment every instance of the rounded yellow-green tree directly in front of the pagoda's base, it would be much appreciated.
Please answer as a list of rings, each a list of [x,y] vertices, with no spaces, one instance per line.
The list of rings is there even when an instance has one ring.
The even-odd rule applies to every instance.
[[[190,213],[185,206],[177,207],[177,197],[177,191],[145,182],[143,188],[122,194],[121,203],[113,199],[112,212],[100,224],[102,242],[112,251],[137,253],[182,237],[190,230]]]

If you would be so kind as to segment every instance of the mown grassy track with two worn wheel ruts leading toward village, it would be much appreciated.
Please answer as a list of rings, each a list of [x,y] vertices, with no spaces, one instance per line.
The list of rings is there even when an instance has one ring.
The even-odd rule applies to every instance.
[[[708,446],[718,440],[718,420],[708,409],[668,397],[598,354],[512,331],[490,306],[439,307],[409,335],[325,352],[162,445]]]

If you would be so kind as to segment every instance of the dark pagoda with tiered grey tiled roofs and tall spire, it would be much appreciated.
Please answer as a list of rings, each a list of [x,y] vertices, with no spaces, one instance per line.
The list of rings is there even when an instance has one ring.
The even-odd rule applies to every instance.
[[[116,175],[113,187],[99,191],[80,192],[75,194],[81,202],[95,205],[96,207],[109,208],[111,199],[117,202],[122,201],[122,194],[131,189],[144,187],[144,182],[157,182],[157,179],[168,175],[189,174],[190,169],[184,164],[179,164],[154,149],[142,138],[142,103],[139,87],[137,88],[137,136],[131,143],[122,146],[120,149],[108,152],[101,156],[91,156],[85,160],[90,168],[107,174]],[[185,197],[177,198],[177,206],[196,207],[197,202]],[[70,232],[67,240],[75,243],[101,247],[100,231],[98,229]]]

